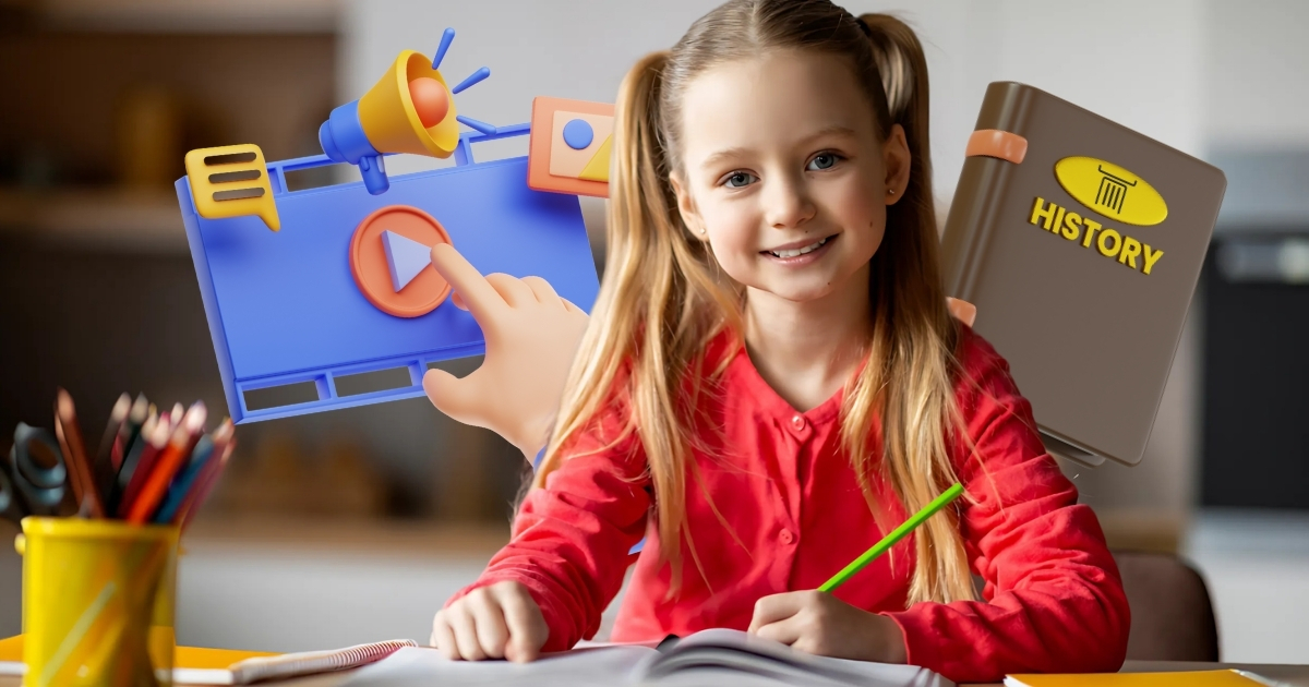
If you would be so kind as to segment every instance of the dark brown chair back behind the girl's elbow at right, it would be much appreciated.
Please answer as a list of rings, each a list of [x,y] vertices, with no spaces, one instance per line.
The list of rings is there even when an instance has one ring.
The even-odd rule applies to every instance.
[[[1127,658],[1219,660],[1219,632],[1204,578],[1177,556],[1114,551],[1132,608]]]

